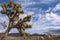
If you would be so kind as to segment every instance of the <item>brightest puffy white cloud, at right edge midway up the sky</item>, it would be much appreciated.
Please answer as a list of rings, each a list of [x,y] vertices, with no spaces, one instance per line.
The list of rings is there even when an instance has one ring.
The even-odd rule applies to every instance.
[[[46,18],[48,21],[51,21],[53,24],[59,25],[60,24],[60,16],[54,13],[46,14]]]

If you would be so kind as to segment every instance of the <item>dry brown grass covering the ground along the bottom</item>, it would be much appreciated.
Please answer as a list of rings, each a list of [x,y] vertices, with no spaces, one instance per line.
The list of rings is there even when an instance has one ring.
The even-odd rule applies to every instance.
[[[29,37],[6,36],[3,40],[60,40],[60,36],[33,35]]]

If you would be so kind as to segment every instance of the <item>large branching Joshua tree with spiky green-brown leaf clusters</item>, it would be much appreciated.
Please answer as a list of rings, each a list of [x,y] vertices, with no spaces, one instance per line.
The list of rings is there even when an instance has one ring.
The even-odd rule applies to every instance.
[[[24,14],[24,11],[21,9],[21,5],[17,3],[13,3],[12,0],[9,0],[9,3],[1,5],[3,10],[1,14],[6,14],[9,18],[9,25],[5,32],[5,36],[8,35],[11,28],[17,28],[22,36],[26,36],[25,32],[26,28],[31,28],[31,25],[28,25],[26,22],[31,20],[31,15],[24,17],[23,19],[19,18],[20,14]],[[16,24],[15,21],[17,21]]]

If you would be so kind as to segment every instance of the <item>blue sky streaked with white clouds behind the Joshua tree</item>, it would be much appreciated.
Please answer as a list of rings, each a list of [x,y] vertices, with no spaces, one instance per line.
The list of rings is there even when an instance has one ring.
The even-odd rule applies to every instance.
[[[0,4],[8,3],[7,0],[1,0]],[[28,33],[51,33],[60,34],[60,0],[13,0],[22,5],[22,9],[26,15],[32,15],[32,29],[27,29]],[[0,7],[0,10],[2,8]],[[8,17],[0,14],[1,21],[6,21],[8,24]],[[0,26],[1,32],[5,31],[3,26]],[[15,31],[16,30],[16,31]],[[18,32],[17,29],[12,29],[11,32]],[[57,33],[56,33],[57,32]]]

